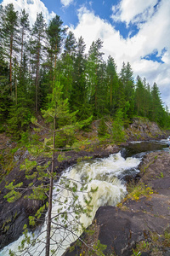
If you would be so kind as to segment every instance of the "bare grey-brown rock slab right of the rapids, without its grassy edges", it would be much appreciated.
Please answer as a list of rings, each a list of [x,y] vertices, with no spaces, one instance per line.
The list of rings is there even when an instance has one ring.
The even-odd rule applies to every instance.
[[[140,166],[140,182],[154,189],[154,194],[139,201],[129,199],[120,208],[99,207],[95,218],[99,224],[99,240],[107,245],[105,253],[111,253],[114,248],[116,255],[132,255],[132,248],[139,241],[151,241],[154,233],[163,236],[170,223],[169,166],[168,152],[147,154]],[[167,249],[161,247],[161,255],[168,255],[168,252],[163,254]]]

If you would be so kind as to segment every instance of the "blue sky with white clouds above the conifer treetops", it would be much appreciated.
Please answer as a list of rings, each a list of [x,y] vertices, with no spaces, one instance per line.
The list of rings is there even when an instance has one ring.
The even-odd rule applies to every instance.
[[[104,60],[111,55],[117,65],[130,62],[134,78],[150,86],[156,82],[170,110],[170,0],[0,0],[26,9],[31,25],[37,13],[51,20],[59,15],[87,51],[93,41],[103,41]]]

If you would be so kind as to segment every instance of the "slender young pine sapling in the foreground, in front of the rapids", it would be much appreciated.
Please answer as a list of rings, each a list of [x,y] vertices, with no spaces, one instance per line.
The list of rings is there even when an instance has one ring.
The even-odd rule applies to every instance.
[[[57,173],[54,167],[54,154],[56,151],[60,151],[62,148],[56,148],[57,142],[55,142],[55,138],[57,137],[57,134],[60,131],[64,131],[65,135],[72,136],[75,131],[78,128],[81,128],[82,125],[87,123],[78,123],[76,119],[76,113],[70,113],[69,106],[68,106],[68,100],[63,99],[63,86],[56,82],[54,84],[54,90],[53,93],[49,95],[48,98],[48,108],[46,110],[42,111],[43,118],[46,119],[48,123],[50,123],[53,127],[53,135],[51,138],[46,140],[44,142],[44,148],[41,150],[41,154],[45,152],[46,154],[48,152],[51,154],[52,152],[52,160],[51,160],[51,167],[48,165],[45,166],[37,166],[37,162],[26,160],[26,163],[22,166],[20,166],[21,170],[26,171],[26,178],[28,180],[32,180],[32,182],[29,185],[29,188],[32,189],[31,193],[29,195],[26,195],[26,198],[29,198],[30,200],[42,200],[47,201],[47,195],[48,195],[48,204],[45,203],[44,206],[42,206],[37,213],[34,216],[30,216],[30,224],[35,225],[36,219],[40,219],[42,216],[42,213],[44,213],[45,208],[48,206],[48,217],[47,217],[47,229],[43,231],[43,233],[46,233],[45,240],[42,239],[42,241],[38,240],[38,237],[30,237],[27,234],[27,227],[24,227],[25,235],[26,237],[21,242],[21,245],[19,247],[19,251],[23,253],[29,252],[30,255],[32,255],[31,246],[33,245],[33,252],[34,247],[38,247],[39,244],[42,243],[42,246],[45,248],[45,255],[49,256],[51,253],[55,253],[53,249],[54,242],[56,244],[61,245],[62,239],[55,241],[54,240],[54,233],[58,233],[59,230],[62,230],[62,227],[64,227],[65,230],[68,230],[68,232],[73,233],[77,230],[82,228],[83,225],[78,220],[82,214],[89,215],[89,212],[91,210],[90,201],[92,199],[90,193],[93,193],[97,189],[91,189],[87,195],[84,195],[84,201],[86,201],[87,207],[83,207],[82,204],[78,201],[77,196],[77,189],[79,186],[79,192],[83,193],[83,190],[86,188],[86,178],[82,178],[81,183],[78,185],[77,181],[70,180],[69,178],[62,177],[59,182],[59,187],[62,186],[65,190],[69,191],[69,197],[66,198],[64,196],[65,200],[63,201],[63,195],[61,192],[59,192],[59,187],[57,190],[57,194],[60,196],[58,197],[57,201],[59,203],[59,211],[55,213],[55,216],[52,218],[52,199],[53,199],[53,189],[54,189],[54,178],[56,178]],[[89,120],[88,120],[89,121]],[[41,125],[38,125],[37,120],[33,120],[34,125],[37,125],[39,127],[42,127]],[[36,130],[36,129],[35,129]],[[62,155],[61,155],[62,157]],[[59,157],[58,157],[59,159]],[[32,172],[32,168],[34,167],[34,172]],[[35,167],[36,170],[35,170]],[[48,183],[49,180],[49,183]],[[39,182],[37,182],[39,181]],[[6,189],[9,189],[10,191],[5,196],[5,198],[8,199],[8,201],[14,201],[20,198],[21,193],[18,191],[18,188],[20,190],[22,189],[22,183],[15,184],[12,182],[6,186]],[[71,197],[71,201],[70,200]],[[75,219],[72,219],[71,221],[68,221],[68,215],[75,213]],[[74,221],[75,220],[75,221]],[[60,225],[59,221],[62,221],[62,226]],[[32,240],[31,240],[32,239]],[[42,248],[42,251],[44,250]],[[40,253],[42,253],[40,251]],[[22,253],[19,253],[19,255]],[[13,255],[12,252],[10,255]],[[17,255],[17,252],[16,252]]]

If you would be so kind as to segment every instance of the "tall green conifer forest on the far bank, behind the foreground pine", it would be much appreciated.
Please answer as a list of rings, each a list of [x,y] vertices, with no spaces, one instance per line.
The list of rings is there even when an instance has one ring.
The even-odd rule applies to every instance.
[[[114,118],[121,110],[123,119],[142,116],[169,127],[156,83],[134,81],[128,62],[117,73],[111,55],[103,60],[102,44],[98,39],[85,54],[83,38],[67,32],[58,15],[47,25],[37,14],[30,27],[25,9],[0,5],[0,130],[26,131],[31,116],[49,108],[56,83],[78,120]]]

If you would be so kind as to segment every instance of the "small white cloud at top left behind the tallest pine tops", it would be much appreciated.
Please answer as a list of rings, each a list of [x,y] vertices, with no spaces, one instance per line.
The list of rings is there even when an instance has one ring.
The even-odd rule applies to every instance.
[[[14,9],[20,12],[21,9],[26,9],[26,13],[29,14],[30,17],[30,24],[34,24],[37,13],[41,13],[44,19],[48,22],[54,17],[54,12],[49,14],[47,7],[42,3],[41,0],[3,0],[2,4],[7,5],[8,3],[14,4]]]

